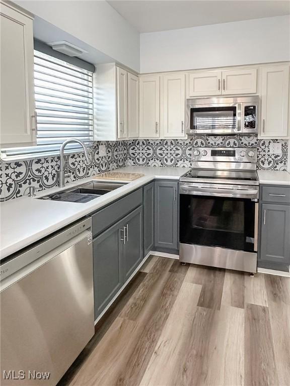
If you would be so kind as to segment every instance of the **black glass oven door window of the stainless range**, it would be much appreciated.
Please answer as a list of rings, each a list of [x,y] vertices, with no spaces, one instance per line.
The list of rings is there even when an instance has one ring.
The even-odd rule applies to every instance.
[[[180,195],[180,242],[254,251],[255,203]]]

